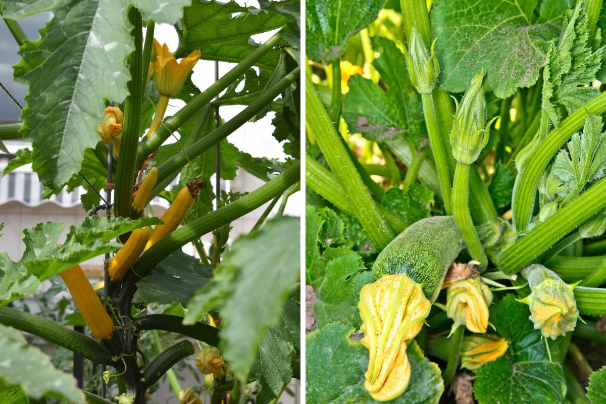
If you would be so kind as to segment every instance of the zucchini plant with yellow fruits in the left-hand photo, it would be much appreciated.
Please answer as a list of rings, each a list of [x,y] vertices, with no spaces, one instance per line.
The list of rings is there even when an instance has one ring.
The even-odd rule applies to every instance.
[[[10,139],[30,145],[4,174],[32,164],[45,197],[85,190],[82,224],[64,231],[39,223],[22,230],[21,259],[0,253],[0,350],[12,363],[0,370],[0,401],[142,404],[166,378],[168,402],[267,404],[300,378],[300,226],[284,214],[301,171],[299,7],[0,2],[19,45],[15,81],[28,86],[22,122],[0,125],[0,148]],[[39,39],[27,38],[19,20],[41,12],[52,18]],[[174,26],[174,52],[158,24]],[[250,39],[258,34],[261,43]],[[215,61],[207,88],[192,80],[201,61]],[[233,64],[220,77],[219,61]],[[173,101],[183,106],[165,118]],[[226,105],[243,107],[227,119]],[[253,157],[227,141],[271,116],[284,159]],[[220,179],[237,170],[262,185],[222,190]],[[161,217],[150,207],[157,197],[170,204]],[[236,239],[231,224],[264,205]],[[207,234],[211,243],[202,242]],[[195,256],[182,251],[188,243]],[[96,290],[79,265],[95,257],[105,263]],[[43,282],[50,291],[38,291]],[[64,290],[53,314],[55,303],[45,303]],[[38,313],[28,296],[44,299]],[[66,316],[66,305],[75,313]],[[39,348],[53,345],[52,359]],[[95,364],[84,385],[70,374],[66,350]],[[198,383],[184,384],[188,370]]]

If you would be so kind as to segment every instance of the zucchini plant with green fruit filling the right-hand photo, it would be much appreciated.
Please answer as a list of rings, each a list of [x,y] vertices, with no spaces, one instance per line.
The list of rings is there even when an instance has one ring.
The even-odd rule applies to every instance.
[[[605,16],[306,1],[307,402],[604,402]]]

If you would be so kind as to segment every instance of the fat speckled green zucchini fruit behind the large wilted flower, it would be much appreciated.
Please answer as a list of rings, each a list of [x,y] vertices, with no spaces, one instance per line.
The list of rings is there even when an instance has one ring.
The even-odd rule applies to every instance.
[[[452,216],[427,217],[410,225],[381,251],[373,265],[371,281],[384,275],[406,274],[421,285],[425,297],[433,303],[448,267],[463,247],[461,232]]]

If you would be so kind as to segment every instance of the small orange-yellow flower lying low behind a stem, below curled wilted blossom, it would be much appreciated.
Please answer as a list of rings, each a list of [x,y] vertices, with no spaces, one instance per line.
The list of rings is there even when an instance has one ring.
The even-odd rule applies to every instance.
[[[499,336],[490,334],[467,336],[461,346],[461,368],[476,371],[484,363],[503,356],[507,348],[509,344]]]

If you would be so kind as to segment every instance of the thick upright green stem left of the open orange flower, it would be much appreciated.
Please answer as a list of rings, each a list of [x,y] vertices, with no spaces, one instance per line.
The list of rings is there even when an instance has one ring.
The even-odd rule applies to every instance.
[[[139,145],[139,127],[141,123],[141,94],[143,93],[142,63],[143,63],[143,28],[141,14],[136,7],[131,7],[128,18],[134,25],[131,35],[135,41],[135,51],[130,55],[130,75],[128,84],[130,96],[124,107],[124,127],[118,171],[116,172],[116,193],[114,210],[116,216],[130,217],[133,197],[133,180],[135,179],[135,160]]]

